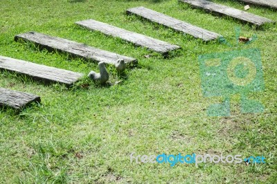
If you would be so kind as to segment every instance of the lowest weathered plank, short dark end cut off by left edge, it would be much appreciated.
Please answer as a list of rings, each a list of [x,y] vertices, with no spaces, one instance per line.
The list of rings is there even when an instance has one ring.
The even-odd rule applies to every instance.
[[[0,88],[0,107],[21,109],[31,102],[40,102],[40,97],[30,93]]]

